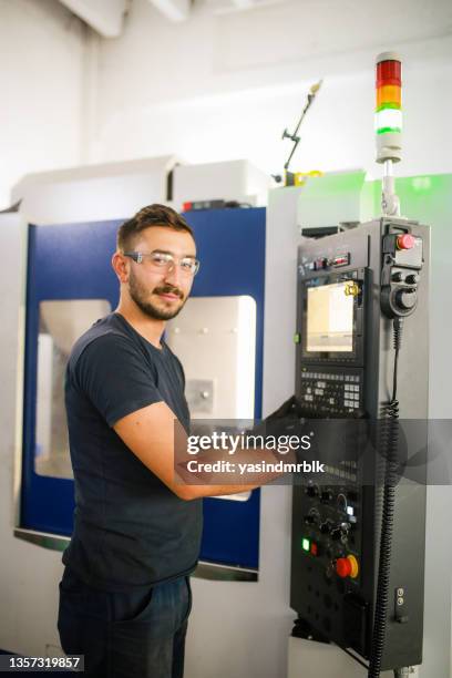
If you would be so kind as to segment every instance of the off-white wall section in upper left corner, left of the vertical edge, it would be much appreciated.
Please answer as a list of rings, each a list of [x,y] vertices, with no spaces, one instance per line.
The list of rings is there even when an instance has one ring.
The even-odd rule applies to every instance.
[[[0,0],[0,209],[23,174],[82,160],[85,34],[58,0]]]

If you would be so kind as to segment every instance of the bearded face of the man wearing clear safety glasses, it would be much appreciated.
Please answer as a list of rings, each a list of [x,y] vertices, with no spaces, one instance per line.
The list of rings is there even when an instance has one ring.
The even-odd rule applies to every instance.
[[[192,289],[193,276],[182,270],[179,261],[196,257],[194,239],[185,230],[152,226],[140,234],[133,251],[160,251],[174,257],[174,265],[163,270],[150,257],[141,264],[130,259],[129,277],[129,294],[143,314],[155,320],[171,320],[182,310]]]

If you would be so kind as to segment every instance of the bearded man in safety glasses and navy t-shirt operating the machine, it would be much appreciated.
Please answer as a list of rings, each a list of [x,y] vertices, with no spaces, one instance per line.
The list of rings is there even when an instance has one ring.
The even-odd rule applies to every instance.
[[[188,432],[189,413],[162,335],[199,266],[189,226],[170,207],[144,207],[120,227],[112,266],[119,306],[75,342],[66,369],[76,507],[59,630],[89,676],[181,678],[201,497],[256,484],[175,477],[175,420]]]

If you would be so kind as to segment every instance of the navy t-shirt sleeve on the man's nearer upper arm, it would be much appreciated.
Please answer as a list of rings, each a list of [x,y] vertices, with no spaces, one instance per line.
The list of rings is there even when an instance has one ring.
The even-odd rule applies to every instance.
[[[163,400],[143,353],[121,335],[103,335],[89,343],[76,361],[74,378],[109,427]]]

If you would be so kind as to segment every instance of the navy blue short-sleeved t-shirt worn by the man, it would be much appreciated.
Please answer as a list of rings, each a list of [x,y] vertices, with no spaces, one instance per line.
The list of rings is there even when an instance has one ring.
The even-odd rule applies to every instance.
[[[164,401],[188,431],[181,362],[157,349],[120,314],[97,320],[75,342],[65,373],[65,405],[75,482],[74,532],[63,554],[86,584],[130,590],[194,569],[202,500],[175,495],[112,428]]]

